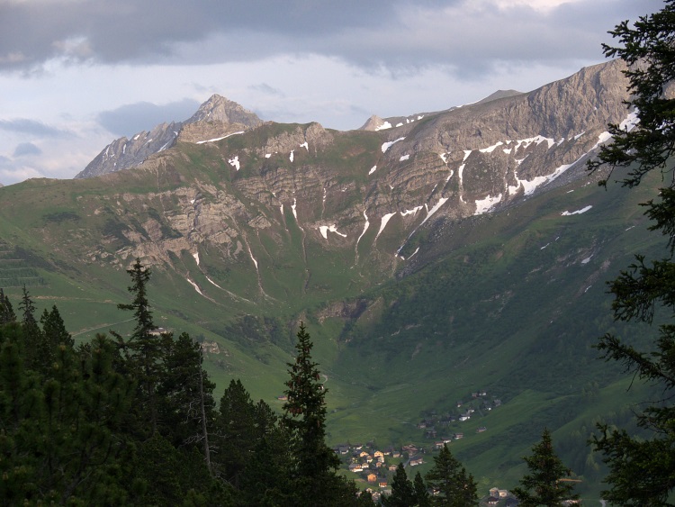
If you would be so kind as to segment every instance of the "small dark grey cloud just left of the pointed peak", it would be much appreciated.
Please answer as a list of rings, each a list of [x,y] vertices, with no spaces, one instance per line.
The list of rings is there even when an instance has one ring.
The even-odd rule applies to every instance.
[[[139,102],[98,113],[97,120],[115,135],[130,136],[139,131],[149,130],[158,123],[187,120],[198,107],[199,102],[188,98],[163,105]]]

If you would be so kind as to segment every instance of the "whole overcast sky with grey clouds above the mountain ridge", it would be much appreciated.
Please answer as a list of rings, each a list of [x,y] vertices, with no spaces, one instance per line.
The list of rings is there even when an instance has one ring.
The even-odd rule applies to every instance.
[[[214,93],[348,130],[604,61],[662,0],[0,0],[0,183],[74,177]]]

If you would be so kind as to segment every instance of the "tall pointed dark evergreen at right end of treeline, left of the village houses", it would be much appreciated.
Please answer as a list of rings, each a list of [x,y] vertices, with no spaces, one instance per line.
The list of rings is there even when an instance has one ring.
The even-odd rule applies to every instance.
[[[310,334],[301,322],[296,358],[288,367],[284,426],[289,430],[293,464],[291,482],[296,505],[332,505],[344,485],[336,475],[340,461],[326,445],[326,393],[318,364],[311,358]]]

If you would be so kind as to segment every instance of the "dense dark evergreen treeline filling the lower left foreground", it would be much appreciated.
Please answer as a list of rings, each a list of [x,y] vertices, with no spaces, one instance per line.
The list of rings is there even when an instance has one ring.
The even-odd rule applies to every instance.
[[[129,270],[136,327],[75,347],[56,306],[0,291],[0,502],[374,505],[336,474],[325,391],[301,326],[277,415],[232,380],[220,403],[186,333],[157,333],[150,272]]]

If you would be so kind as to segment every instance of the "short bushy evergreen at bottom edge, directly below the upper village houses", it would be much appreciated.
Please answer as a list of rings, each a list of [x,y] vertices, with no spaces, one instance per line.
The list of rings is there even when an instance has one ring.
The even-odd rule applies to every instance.
[[[477,486],[473,475],[452,455],[446,444],[434,457],[434,467],[428,471],[427,484],[434,490],[431,505],[468,507],[478,505]]]

